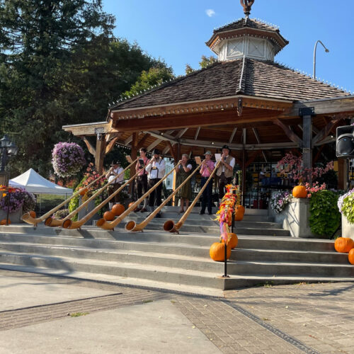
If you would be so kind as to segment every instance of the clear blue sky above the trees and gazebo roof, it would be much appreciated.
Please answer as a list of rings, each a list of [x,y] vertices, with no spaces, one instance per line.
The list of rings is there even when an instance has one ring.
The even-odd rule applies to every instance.
[[[116,17],[115,35],[137,42],[149,55],[164,59],[176,75],[185,64],[198,69],[214,28],[244,17],[239,0],[103,0]],[[289,40],[275,60],[312,75],[316,40],[316,76],[354,91],[353,0],[256,0],[251,18],[280,27]]]

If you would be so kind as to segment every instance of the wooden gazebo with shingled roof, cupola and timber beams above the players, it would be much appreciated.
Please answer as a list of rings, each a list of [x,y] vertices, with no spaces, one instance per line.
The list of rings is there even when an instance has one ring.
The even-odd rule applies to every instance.
[[[284,152],[301,153],[305,168],[321,156],[333,157],[335,129],[354,116],[354,96],[275,62],[288,41],[279,28],[250,18],[250,11],[244,5],[244,18],[217,28],[206,42],[217,62],[120,99],[103,122],[63,129],[84,139],[101,171],[115,144],[131,147],[133,159],[139,147],[156,147],[175,160],[228,144],[242,181],[247,166]],[[89,135],[97,136],[96,147]],[[339,188],[346,176],[339,160]]]

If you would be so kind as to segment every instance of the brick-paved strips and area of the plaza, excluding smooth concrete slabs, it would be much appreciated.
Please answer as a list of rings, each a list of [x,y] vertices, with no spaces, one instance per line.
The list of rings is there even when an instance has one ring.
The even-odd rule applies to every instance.
[[[0,270],[1,274],[21,278],[23,273]],[[54,321],[75,312],[169,299],[222,353],[354,353],[354,282],[253,287],[210,298],[25,275],[113,294],[0,312],[0,331]]]

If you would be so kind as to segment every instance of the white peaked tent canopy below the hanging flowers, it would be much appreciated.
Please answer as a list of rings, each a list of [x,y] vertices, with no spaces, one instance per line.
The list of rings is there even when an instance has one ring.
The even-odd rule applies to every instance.
[[[72,189],[64,188],[60,185],[52,183],[40,176],[35,170],[29,169],[20,176],[12,178],[8,181],[13,187],[21,187],[30,193],[51,193],[51,194],[72,194]]]

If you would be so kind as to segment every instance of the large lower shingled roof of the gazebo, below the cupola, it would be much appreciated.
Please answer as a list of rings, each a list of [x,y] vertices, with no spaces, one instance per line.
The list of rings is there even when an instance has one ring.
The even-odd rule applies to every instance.
[[[346,91],[295,72],[276,62],[245,58],[216,62],[206,69],[198,70],[152,91],[112,105],[110,110],[227,98],[236,94],[287,101],[349,95]]]

